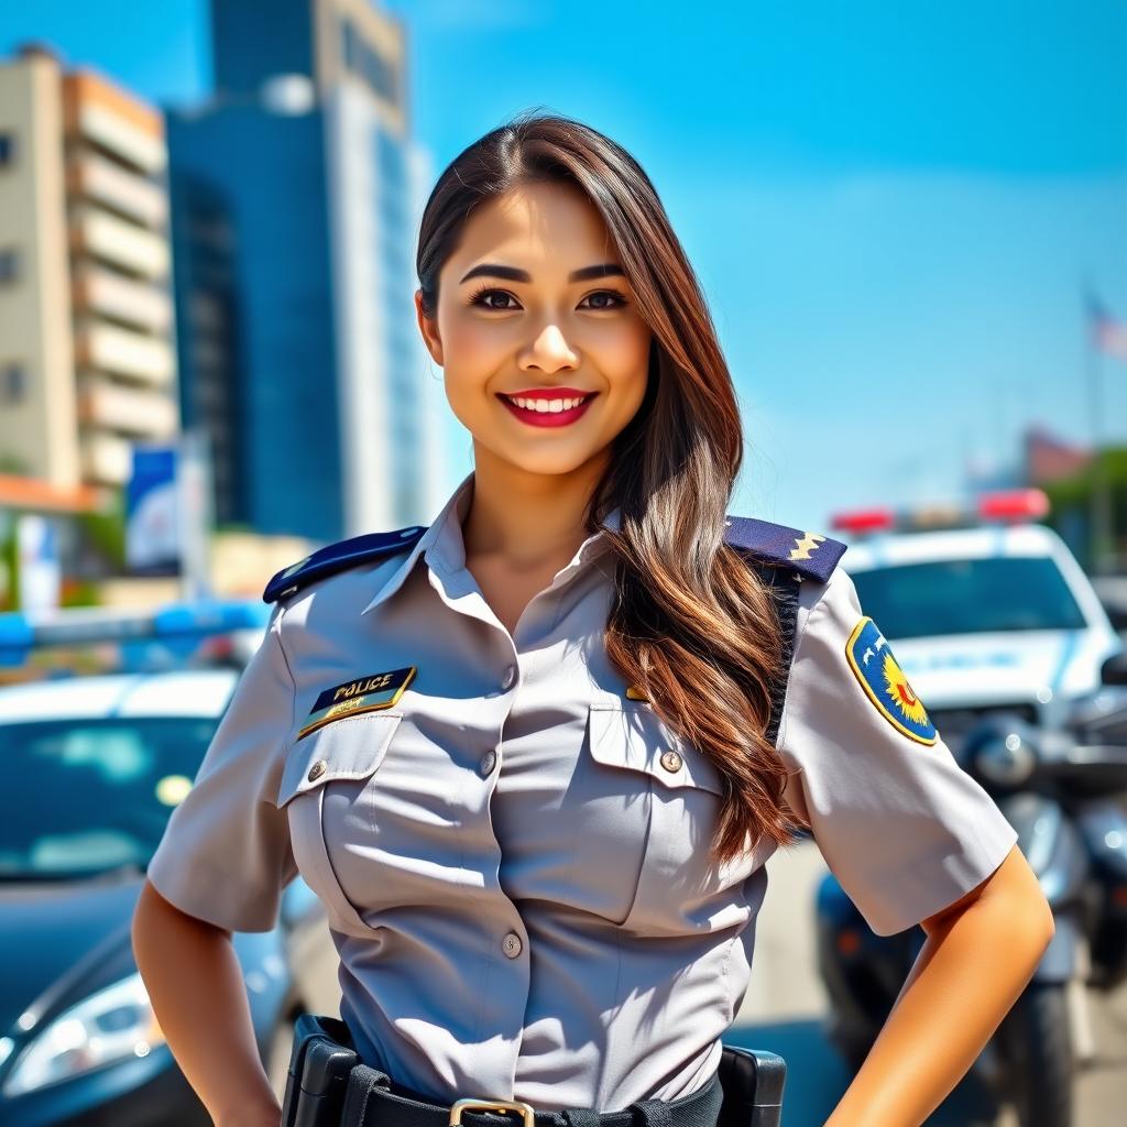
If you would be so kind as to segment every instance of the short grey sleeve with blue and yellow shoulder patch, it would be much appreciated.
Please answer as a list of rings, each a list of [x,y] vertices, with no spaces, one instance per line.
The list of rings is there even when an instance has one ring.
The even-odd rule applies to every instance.
[[[778,747],[826,864],[878,935],[949,907],[1018,834],[956,762],[837,568],[801,586]]]

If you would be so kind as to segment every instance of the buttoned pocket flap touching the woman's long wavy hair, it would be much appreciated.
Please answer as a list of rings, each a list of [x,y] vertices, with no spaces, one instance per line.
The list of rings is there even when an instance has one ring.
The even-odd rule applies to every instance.
[[[644,771],[665,787],[724,793],[716,766],[676,736],[649,704],[593,701],[587,724],[591,754],[600,763]]]

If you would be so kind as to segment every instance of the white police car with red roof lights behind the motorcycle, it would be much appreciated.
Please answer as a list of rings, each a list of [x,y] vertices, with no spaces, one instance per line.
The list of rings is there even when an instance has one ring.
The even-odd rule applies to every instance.
[[[842,566],[944,740],[984,713],[1064,724],[1122,648],[1064,541],[1037,523],[1037,489],[983,495],[975,511],[838,514]]]

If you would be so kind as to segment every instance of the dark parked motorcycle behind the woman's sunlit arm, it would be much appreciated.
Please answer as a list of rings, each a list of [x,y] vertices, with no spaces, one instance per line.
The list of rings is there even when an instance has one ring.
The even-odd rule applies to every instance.
[[[952,747],[1018,832],[1056,922],[971,1070],[1021,1127],[1071,1127],[1076,1071],[1095,1055],[1088,991],[1127,977],[1127,654],[1108,658],[1102,682],[1059,728],[995,713]],[[832,873],[816,916],[827,1033],[857,1070],[926,937],[921,928],[873,934]]]

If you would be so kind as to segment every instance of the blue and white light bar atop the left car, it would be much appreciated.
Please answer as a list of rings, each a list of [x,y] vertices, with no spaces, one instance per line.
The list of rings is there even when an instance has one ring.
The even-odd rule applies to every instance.
[[[20,664],[29,650],[137,639],[174,641],[266,625],[270,607],[259,602],[172,603],[144,611],[100,606],[64,609],[29,619],[20,611],[0,614],[0,665]]]

